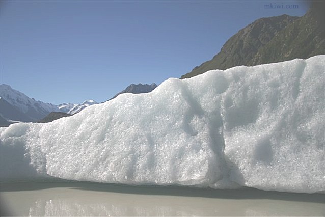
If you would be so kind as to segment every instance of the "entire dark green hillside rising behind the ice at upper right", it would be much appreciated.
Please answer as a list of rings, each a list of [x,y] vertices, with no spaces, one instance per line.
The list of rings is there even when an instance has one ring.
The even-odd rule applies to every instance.
[[[195,67],[181,78],[212,69],[308,59],[325,54],[323,16],[315,7],[302,17],[281,15],[254,21],[232,36],[212,60]]]

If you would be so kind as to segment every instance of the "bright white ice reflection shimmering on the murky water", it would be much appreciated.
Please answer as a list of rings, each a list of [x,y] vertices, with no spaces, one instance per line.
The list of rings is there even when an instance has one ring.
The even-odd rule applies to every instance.
[[[80,202],[80,201],[79,201]],[[94,202],[90,204],[67,200],[50,200],[35,202],[30,207],[30,216],[189,216],[205,215],[206,211],[199,207],[168,206],[167,204],[126,204]]]

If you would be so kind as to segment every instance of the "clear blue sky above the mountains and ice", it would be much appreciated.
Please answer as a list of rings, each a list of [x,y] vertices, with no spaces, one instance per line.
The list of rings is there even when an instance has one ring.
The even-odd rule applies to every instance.
[[[298,9],[264,9],[265,4]],[[261,17],[304,1],[1,1],[0,83],[59,104],[105,101],[210,60]]]

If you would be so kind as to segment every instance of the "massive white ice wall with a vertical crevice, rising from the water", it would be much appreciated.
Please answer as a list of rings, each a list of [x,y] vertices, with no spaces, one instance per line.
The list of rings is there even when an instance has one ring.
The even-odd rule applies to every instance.
[[[0,128],[0,181],[325,191],[325,55],[170,78]]]

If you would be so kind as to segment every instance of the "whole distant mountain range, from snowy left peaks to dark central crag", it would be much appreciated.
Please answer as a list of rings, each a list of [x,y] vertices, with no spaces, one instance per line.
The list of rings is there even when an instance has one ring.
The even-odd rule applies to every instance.
[[[156,84],[131,84],[113,98],[123,93],[148,93],[157,87]],[[111,99],[113,99],[111,98]],[[53,105],[36,101],[25,94],[12,89],[9,85],[0,85],[0,127],[15,122],[50,122],[62,117],[74,115],[86,107],[98,104],[95,100],[86,100],[80,104],[62,103]]]

